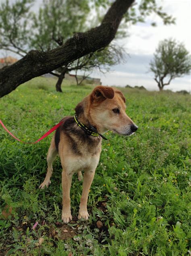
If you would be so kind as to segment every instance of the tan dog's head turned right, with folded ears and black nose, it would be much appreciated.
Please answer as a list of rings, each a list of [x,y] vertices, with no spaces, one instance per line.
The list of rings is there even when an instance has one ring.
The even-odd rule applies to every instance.
[[[138,127],[127,116],[125,97],[121,91],[112,87],[97,86],[88,96],[89,122],[100,133],[110,130],[121,135],[131,135]]]

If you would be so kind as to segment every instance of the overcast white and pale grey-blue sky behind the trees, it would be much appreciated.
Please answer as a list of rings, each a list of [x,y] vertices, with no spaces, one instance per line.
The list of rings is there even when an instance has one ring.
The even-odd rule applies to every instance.
[[[139,2],[137,0],[136,2]],[[10,2],[15,2],[11,0]],[[42,0],[37,0],[34,11],[37,11]],[[149,72],[149,61],[158,46],[158,42],[165,38],[174,38],[185,44],[186,49],[191,52],[191,0],[156,0],[163,11],[176,18],[175,25],[163,25],[162,20],[152,14],[145,23],[137,23],[128,28],[129,36],[116,43],[125,48],[128,56],[126,62],[112,66],[111,71],[106,74],[93,72],[91,77],[101,78],[102,85],[132,87],[143,85],[148,90],[158,90],[154,80],[154,74]],[[155,21],[157,27],[152,27]],[[1,52],[0,52],[1,55]],[[175,78],[170,85],[164,87],[172,91],[191,91],[191,76]]]

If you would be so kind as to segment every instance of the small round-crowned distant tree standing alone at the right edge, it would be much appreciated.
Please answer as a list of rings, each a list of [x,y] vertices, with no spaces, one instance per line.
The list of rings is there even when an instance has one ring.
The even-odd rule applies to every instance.
[[[154,73],[154,80],[162,91],[165,85],[170,85],[172,79],[189,74],[191,56],[183,43],[165,39],[159,42],[154,59],[149,65],[150,71]]]

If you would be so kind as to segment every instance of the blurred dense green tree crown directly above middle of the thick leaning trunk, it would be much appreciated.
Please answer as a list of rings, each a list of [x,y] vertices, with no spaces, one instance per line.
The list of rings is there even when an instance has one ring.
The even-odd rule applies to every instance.
[[[32,16],[31,49],[49,51],[62,45],[76,32],[87,30],[88,0],[44,0]]]

